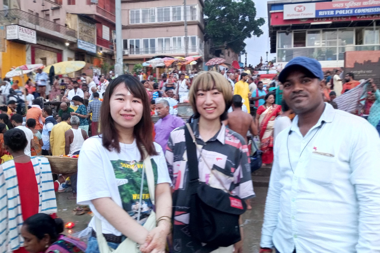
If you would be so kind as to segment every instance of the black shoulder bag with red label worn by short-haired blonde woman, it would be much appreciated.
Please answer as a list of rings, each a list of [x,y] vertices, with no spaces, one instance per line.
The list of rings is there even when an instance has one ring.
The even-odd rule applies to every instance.
[[[199,180],[196,142],[190,125],[186,125],[185,138],[190,178],[190,234],[196,240],[206,243],[202,252],[211,252],[241,240],[238,220],[239,215],[245,212],[246,204],[231,192],[226,193]],[[210,167],[209,169],[213,173]],[[216,178],[220,181],[217,176]]]

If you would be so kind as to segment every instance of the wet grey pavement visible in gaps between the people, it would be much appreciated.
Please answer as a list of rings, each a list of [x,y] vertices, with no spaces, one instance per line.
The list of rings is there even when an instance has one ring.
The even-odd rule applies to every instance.
[[[244,222],[244,253],[258,253],[260,250],[261,225],[263,224],[265,199],[267,197],[268,187],[254,187],[256,197],[251,199],[252,210],[247,210],[243,214]],[[92,215],[87,213],[75,215],[73,209],[77,207],[76,200],[68,200],[71,192],[56,193],[58,216],[67,222],[74,222],[75,227],[72,229],[65,228],[64,233],[76,234],[87,228]]]

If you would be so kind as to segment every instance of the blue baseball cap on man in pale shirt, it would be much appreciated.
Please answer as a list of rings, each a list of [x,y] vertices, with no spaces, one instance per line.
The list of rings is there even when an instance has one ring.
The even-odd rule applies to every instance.
[[[310,72],[314,77],[322,80],[324,79],[322,66],[319,63],[319,61],[304,57],[304,56],[298,56],[293,59],[291,59],[285,66],[285,68],[280,72],[279,75],[279,81],[281,83],[284,83],[287,76],[289,75],[290,71],[302,68],[304,70],[307,70]]]

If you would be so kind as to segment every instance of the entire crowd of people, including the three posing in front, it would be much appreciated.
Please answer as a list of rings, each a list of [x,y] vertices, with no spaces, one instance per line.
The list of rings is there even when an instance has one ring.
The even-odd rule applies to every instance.
[[[0,252],[241,253],[256,141],[273,163],[261,253],[380,251],[380,91],[370,80],[368,121],[334,110],[360,84],[334,72],[296,57],[267,85],[247,67],[82,74],[53,115],[39,71],[30,103],[12,95],[0,106]],[[35,85],[45,86],[36,97]],[[55,78],[50,92],[60,86]],[[177,117],[171,99],[193,116]],[[41,155],[79,155],[78,171],[55,175]],[[87,244],[64,236],[56,217],[54,192],[68,177],[77,211],[94,213]]]

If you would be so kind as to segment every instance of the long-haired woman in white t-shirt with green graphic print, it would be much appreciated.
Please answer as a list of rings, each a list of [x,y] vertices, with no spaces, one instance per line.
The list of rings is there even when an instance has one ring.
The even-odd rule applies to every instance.
[[[137,78],[122,75],[109,84],[103,99],[101,134],[87,139],[79,155],[77,202],[90,205],[110,247],[116,249],[128,237],[141,245],[142,253],[164,252],[172,212],[171,179],[163,151],[153,142],[148,95]],[[146,173],[140,220],[135,211],[141,207],[142,147],[151,158],[156,185],[158,223],[151,231],[142,226],[153,210]],[[86,252],[99,253],[94,218],[89,227],[93,231]]]

